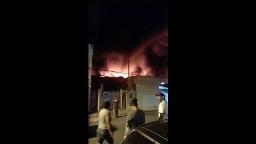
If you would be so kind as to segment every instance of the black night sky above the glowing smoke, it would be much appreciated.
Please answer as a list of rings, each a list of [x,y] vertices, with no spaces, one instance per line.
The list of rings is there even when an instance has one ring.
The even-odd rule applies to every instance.
[[[93,57],[113,51],[130,57],[135,47],[168,28],[167,2],[89,0],[89,44],[94,45]],[[94,60],[93,65],[102,68],[104,60]]]

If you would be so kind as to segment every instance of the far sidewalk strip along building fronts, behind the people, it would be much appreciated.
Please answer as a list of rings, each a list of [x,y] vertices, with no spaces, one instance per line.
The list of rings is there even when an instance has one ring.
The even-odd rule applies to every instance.
[[[157,110],[158,107],[139,107],[143,111]],[[131,111],[131,107],[118,109],[118,116],[126,116]],[[113,110],[110,110],[111,118],[114,118]],[[98,124],[98,113],[89,114],[89,126]]]

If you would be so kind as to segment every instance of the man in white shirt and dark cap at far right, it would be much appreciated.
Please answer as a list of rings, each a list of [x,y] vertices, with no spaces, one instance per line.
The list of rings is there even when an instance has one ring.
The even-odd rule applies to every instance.
[[[158,121],[168,119],[168,102],[165,100],[164,93],[156,94],[157,99],[160,101],[158,107]]]

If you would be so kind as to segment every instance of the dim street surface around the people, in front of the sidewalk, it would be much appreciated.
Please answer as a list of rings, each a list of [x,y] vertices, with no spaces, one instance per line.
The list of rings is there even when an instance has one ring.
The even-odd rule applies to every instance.
[[[157,119],[158,119],[157,110],[144,111],[144,113],[145,113],[145,121],[146,121],[145,124],[157,121]],[[124,139],[125,121],[126,121],[126,115],[125,116],[121,115],[121,117],[118,117],[116,119],[114,119],[114,118],[112,119],[111,124],[117,128],[117,130],[114,131],[114,137],[113,137],[114,143],[120,143]],[[91,128],[89,128],[89,129],[94,129],[95,130],[97,128],[96,125],[98,125],[98,124],[95,124],[94,126],[90,126]],[[97,137],[89,138],[89,143],[90,144],[95,144],[95,143],[97,143],[97,141],[98,141]],[[103,143],[108,143],[108,142],[106,140],[104,140]]]

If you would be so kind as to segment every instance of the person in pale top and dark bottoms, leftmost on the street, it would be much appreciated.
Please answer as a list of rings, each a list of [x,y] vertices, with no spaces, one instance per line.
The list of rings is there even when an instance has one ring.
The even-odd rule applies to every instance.
[[[110,102],[103,102],[102,109],[99,111],[99,125],[97,129],[98,143],[102,144],[103,140],[106,140],[108,143],[113,144],[113,132],[111,131],[111,115],[110,111]]]

